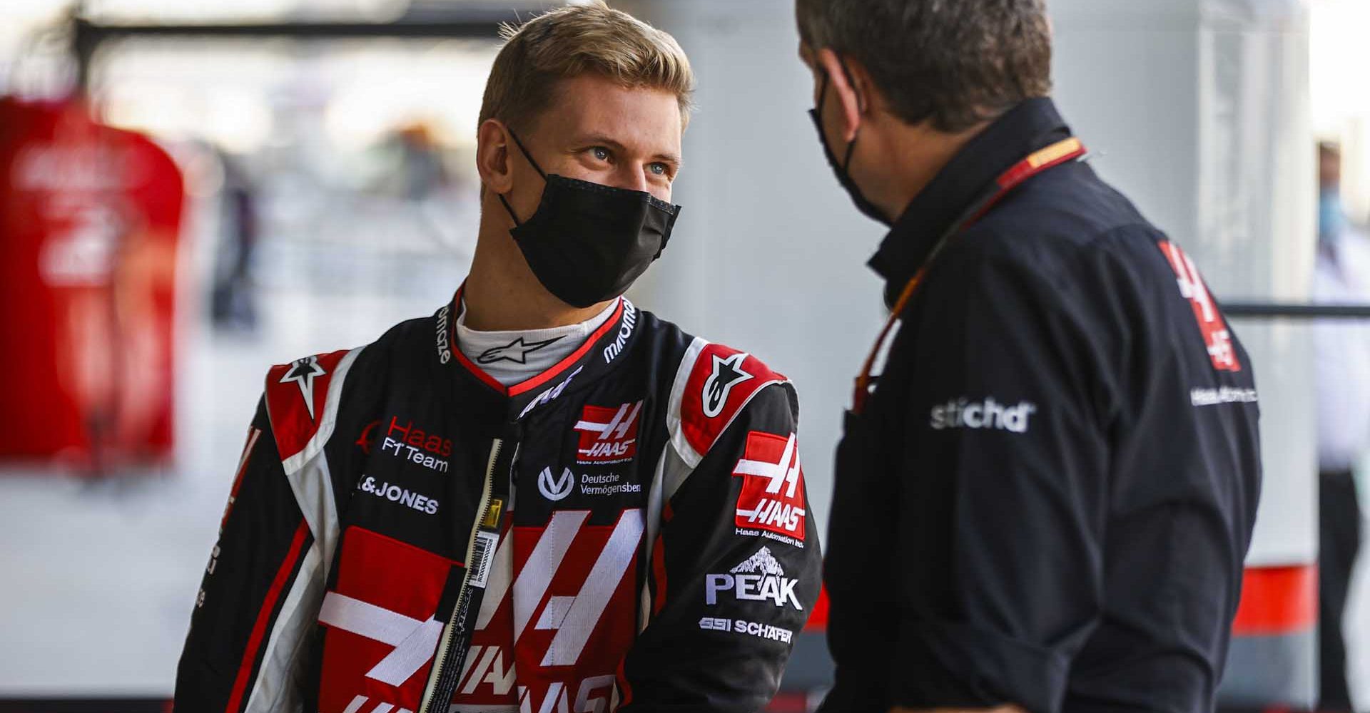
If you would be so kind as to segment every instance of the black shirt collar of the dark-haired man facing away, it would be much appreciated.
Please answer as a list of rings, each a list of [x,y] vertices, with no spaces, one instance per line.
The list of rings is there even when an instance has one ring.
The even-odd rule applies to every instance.
[[[991,183],[1023,156],[1070,137],[1049,99],[1030,99],[989,125],[910,201],[867,263],[885,278],[885,304],[927,259],[937,239]]]

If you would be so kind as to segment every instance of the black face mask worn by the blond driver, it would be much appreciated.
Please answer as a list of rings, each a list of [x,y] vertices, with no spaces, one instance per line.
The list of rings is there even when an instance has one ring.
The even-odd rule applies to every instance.
[[[547,291],[571,307],[612,300],[633,285],[671,239],[680,205],[629,190],[548,175],[510,131],[527,163],[547,181],[543,201],[525,222],[504,196],[514,242]]]

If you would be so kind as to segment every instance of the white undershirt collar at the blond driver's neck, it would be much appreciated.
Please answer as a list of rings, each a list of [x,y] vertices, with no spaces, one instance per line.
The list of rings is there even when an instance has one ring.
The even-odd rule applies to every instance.
[[[608,322],[621,300],[614,300],[603,312],[580,324],[512,331],[469,328],[466,300],[462,300],[462,313],[456,317],[456,346],[495,380],[514,386],[555,367],[577,350],[595,330]]]

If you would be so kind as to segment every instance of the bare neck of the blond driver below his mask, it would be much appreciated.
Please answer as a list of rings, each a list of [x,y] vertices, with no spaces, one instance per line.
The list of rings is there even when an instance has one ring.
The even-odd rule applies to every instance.
[[[527,268],[508,227],[492,226],[486,219],[481,220],[481,237],[462,297],[466,300],[466,326],[477,331],[564,327],[592,319],[608,305],[604,301],[577,308],[553,297]]]

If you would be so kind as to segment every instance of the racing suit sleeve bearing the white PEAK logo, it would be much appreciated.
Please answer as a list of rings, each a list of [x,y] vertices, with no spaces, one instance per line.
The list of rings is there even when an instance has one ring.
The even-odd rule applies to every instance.
[[[775,695],[822,576],[796,411],[788,383],[759,390],[666,501],[623,713],[754,712]],[[667,446],[667,483],[673,468]]]

